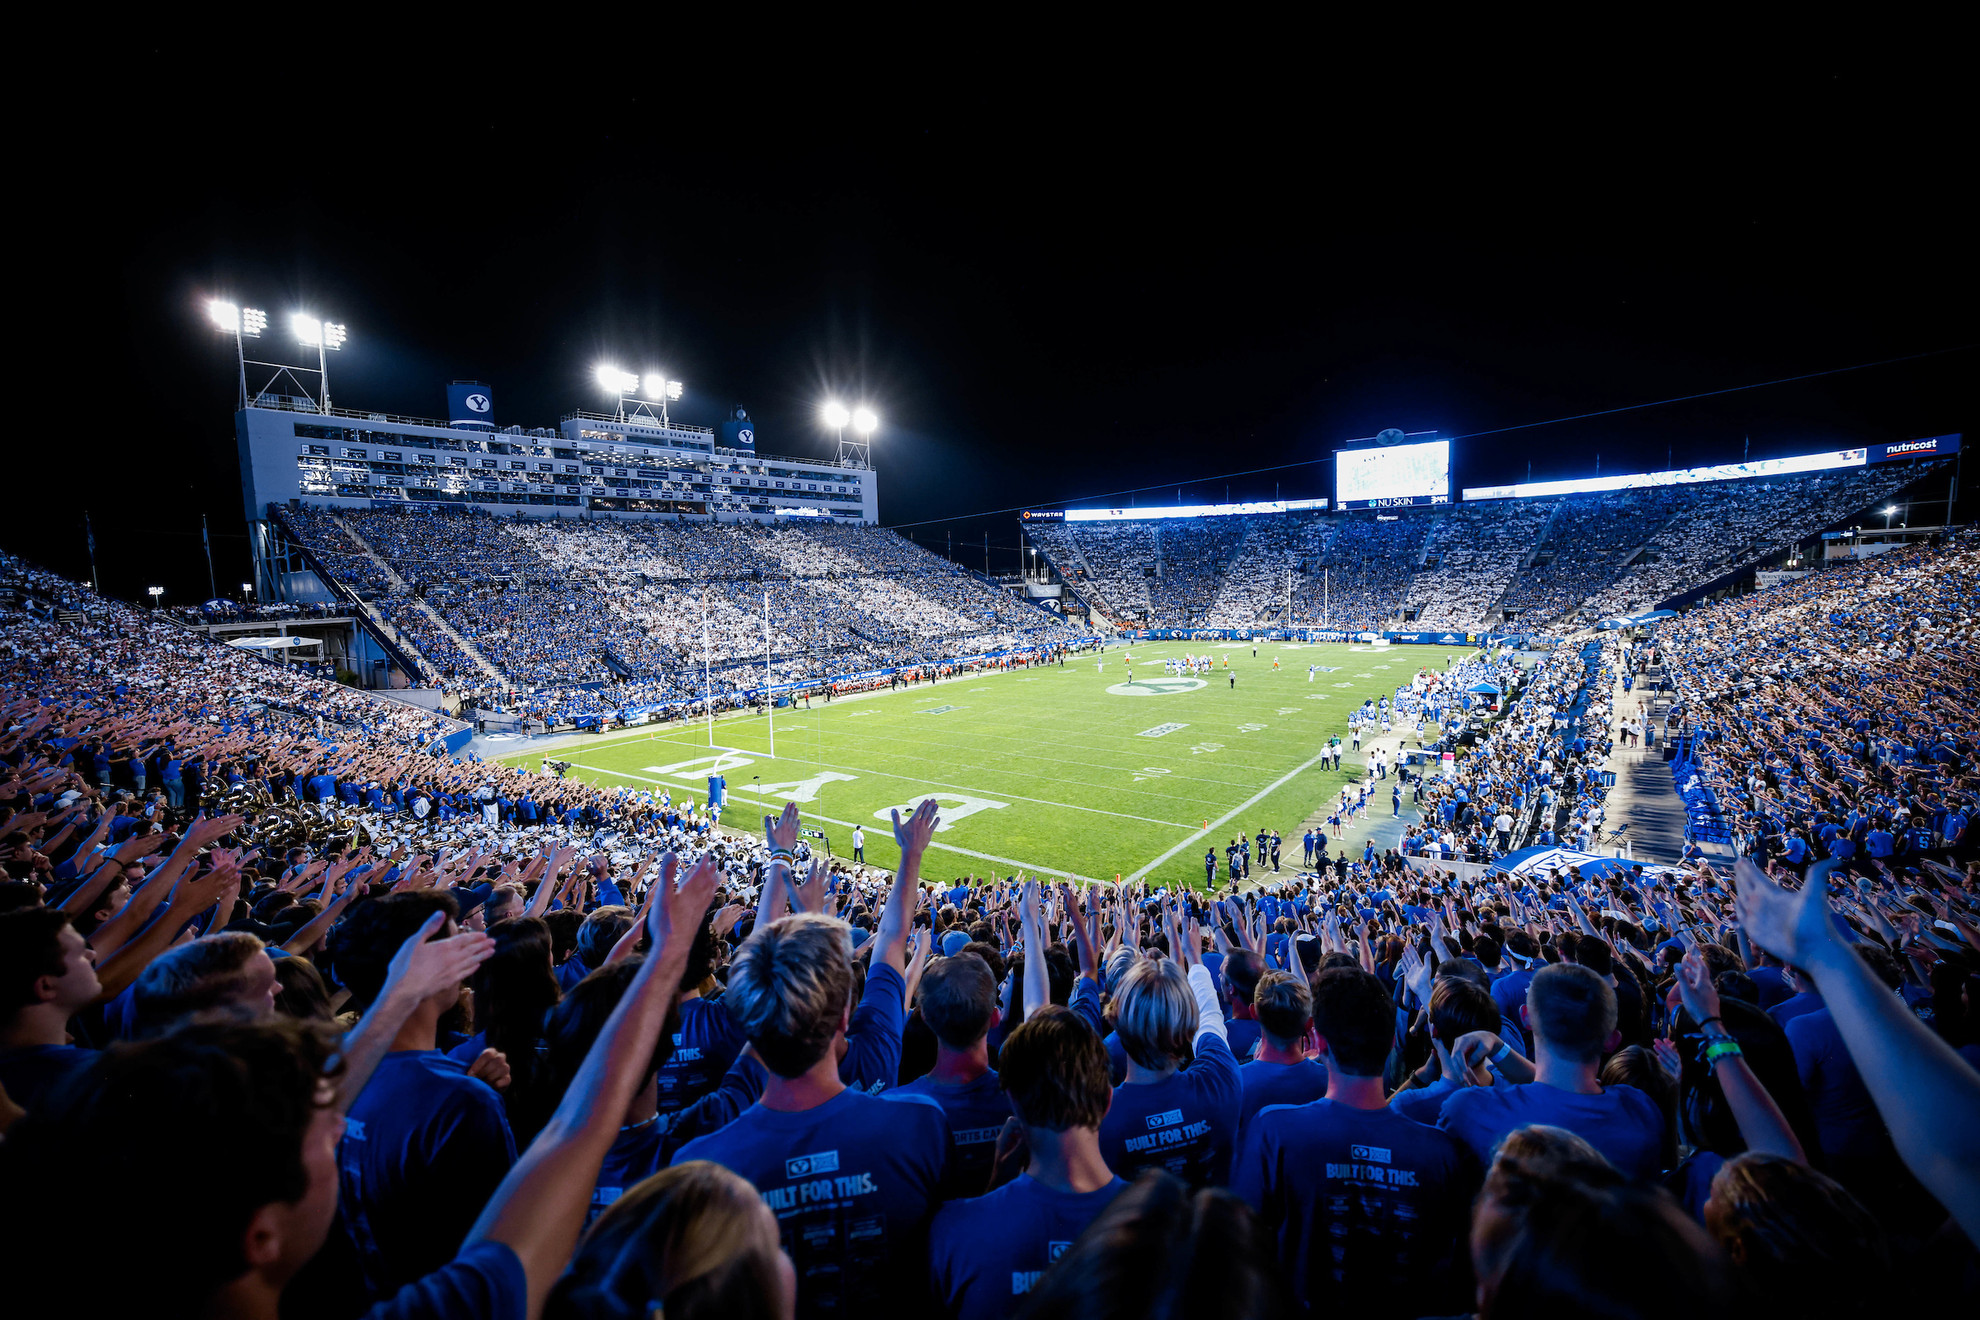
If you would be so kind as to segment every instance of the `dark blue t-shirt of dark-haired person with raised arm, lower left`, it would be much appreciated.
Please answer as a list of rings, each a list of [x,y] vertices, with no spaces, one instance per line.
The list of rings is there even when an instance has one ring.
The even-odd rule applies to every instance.
[[[487,1083],[438,1049],[386,1055],[337,1146],[339,1205],[372,1298],[451,1261],[513,1164]]]

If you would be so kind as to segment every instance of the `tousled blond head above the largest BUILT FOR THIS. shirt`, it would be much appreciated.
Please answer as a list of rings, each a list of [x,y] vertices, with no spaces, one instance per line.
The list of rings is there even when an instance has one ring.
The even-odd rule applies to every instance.
[[[723,1003],[762,1065],[788,1079],[832,1049],[845,1025],[851,991],[845,922],[800,912],[750,934],[729,968]]]

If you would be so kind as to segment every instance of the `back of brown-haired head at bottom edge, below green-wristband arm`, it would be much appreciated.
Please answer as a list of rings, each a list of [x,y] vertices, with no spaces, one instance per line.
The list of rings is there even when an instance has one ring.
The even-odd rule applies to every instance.
[[[1746,1290],[1780,1314],[1865,1314],[1887,1302],[1883,1227],[1828,1174],[1784,1156],[1742,1154],[1713,1176],[1705,1227]]]

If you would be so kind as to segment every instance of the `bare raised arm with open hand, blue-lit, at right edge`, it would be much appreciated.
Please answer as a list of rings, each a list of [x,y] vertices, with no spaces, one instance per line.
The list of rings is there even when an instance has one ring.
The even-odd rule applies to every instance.
[[[1760,948],[1814,976],[1899,1158],[1980,1241],[1980,1124],[1972,1120],[1980,1073],[1837,938],[1826,895],[1832,869],[1810,867],[1808,883],[1790,893],[1740,859],[1740,924]]]

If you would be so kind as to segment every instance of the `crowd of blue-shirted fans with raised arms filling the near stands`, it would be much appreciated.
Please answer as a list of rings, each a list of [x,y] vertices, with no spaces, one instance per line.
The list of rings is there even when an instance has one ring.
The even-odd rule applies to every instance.
[[[1972,1300],[1980,540],[1657,637],[1756,821],[1732,869],[1451,865],[1487,813],[1598,803],[1612,639],[1364,708],[1459,754],[1418,782],[1436,851],[1323,841],[1243,893],[931,875],[935,801],[895,873],[826,863],[796,807],[758,837],[455,762],[438,716],[0,586],[67,602],[0,613],[0,1197],[16,1255],[117,1225],[67,1310]]]

